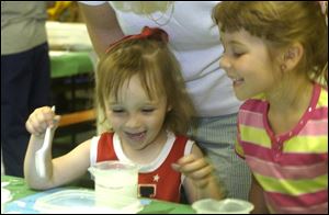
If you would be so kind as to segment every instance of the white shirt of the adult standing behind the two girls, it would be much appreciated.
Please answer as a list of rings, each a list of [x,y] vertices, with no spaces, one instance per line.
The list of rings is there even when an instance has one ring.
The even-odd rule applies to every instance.
[[[107,1],[81,2],[100,5]],[[146,25],[161,27],[169,34],[170,47],[181,64],[186,88],[198,116],[236,113],[240,105],[234,94],[231,80],[219,69],[223,46],[218,27],[212,19],[212,10],[217,3],[218,1],[174,1],[174,8],[150,16],[118,10],[115,2],[110,1],[125,34],[140,33]],[[158,23],[167,24],[159,26]]]

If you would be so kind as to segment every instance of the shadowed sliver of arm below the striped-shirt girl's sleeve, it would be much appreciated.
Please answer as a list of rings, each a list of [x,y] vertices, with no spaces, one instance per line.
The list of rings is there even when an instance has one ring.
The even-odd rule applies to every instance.
[[[251,189],[249,193],[249,201],[253,204],[254,210],[251,212],[252,214],[268,214],[266,203],[264,201],[263,189],[257,182],[254,177],[252,176]]]

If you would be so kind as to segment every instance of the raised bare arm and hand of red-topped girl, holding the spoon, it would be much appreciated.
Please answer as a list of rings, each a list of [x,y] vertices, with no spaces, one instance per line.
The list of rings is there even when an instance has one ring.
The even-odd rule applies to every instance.
[[[37,174],[35,152],[43,145],[46,127],[52,124],[52,129],[55,132],[58,121],[59,116],[55,116],[50,108],[45,106],[35,110],[26,122],[26,129],[31,133],[31,138],[24,160],[24,178],[32,189],[44,190],[71,182],[83,176],[90,165],[90,140],[56,159],[52,158],[52,147],[49,147],[46,151],[45,163],[38,163],[45,165],[46,176],[42,178]],[[53,124],[53,122],[55,123]]]

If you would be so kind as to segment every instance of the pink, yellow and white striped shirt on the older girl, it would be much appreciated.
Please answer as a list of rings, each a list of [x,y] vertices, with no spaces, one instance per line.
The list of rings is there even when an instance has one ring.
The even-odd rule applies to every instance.
[[[246,101],[238,115],[236,151],[264,191],[271,213],[328,213],[328,90],[314,86],[298,124],[274,135],[263,98]]]

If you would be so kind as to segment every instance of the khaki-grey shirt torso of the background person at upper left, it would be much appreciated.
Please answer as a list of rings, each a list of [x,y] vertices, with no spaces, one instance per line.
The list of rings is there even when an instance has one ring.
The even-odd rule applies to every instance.
[[[44,1],[1,1],[1,55],[29,50],[46,42]]]

